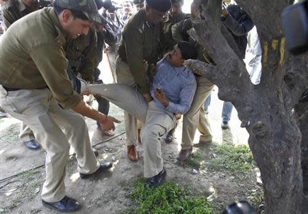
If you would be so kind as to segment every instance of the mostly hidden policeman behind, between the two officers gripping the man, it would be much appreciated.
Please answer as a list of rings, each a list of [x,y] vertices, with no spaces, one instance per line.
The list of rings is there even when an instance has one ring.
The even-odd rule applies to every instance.
[[[184,14],[182,12],[183,0],[171,0],[172,5],[166,17],[164,17],[164,23],[162,27],[162,38],[161,38],[161,46],[160,46],[160,53],[164,54],[171,49],[173,46],[177,44],[175,40],[172,38],[172,25],[175,23],[179,23],[180,21],[184,20],[185,18],[189,18],[188,14]],[[181,116],[177,116],[177,120],[179,120]],[[175,133],[175,128],[169,131],[166,136],[164,137],[166,143],[170,143],[173,140],[173,135]]]

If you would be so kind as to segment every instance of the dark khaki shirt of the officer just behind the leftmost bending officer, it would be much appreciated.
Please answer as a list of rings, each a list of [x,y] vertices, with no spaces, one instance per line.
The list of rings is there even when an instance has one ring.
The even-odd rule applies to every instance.
[[[64,50],[70,67],[75,72],[80,72],[82,79],[94,81],[96,68],[97,33],[90,28],[87,35],[67,40]]]

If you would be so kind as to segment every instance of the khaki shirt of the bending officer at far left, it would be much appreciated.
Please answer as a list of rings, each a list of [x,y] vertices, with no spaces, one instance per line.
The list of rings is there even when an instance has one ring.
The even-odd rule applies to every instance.
[[[7,88],[46,88],[64,108],[81,101],[67,75],[63,29],[53,8],[19,19],[0,41],[0,84]]]

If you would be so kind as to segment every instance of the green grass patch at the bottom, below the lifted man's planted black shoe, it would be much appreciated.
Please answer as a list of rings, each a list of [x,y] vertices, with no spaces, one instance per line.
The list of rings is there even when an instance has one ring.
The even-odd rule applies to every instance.
[[[129,196],[137,204],[136,209],[125,213],[134,214],[214,214],[211,204],[205,198],[190,196],[187,187],[174,182],[151,190],[144,188],[145,180],[133,181],[133,189]]]

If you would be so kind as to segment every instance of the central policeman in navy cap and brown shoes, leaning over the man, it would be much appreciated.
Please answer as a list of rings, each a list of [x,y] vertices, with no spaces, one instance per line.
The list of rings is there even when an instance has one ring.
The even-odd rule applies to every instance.
[[[146,0],[144,8],[127,21],[116,59],[118,83],[136,88],[146,102],[152,100],[146,75],[148,65],[157,62],[159,21],[170,9],[170,0]],[[136,146],[137,120],[125,112],[127,155],[131,161],[138,160]]]

